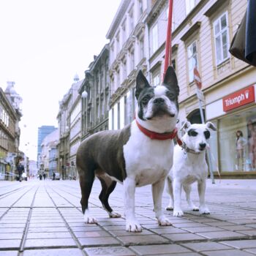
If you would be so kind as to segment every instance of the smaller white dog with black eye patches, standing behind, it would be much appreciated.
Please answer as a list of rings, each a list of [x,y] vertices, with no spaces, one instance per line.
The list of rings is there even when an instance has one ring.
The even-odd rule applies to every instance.
[[[200,211],[200,214],[210,214],[205,204],[206,178],[208,166],[206,163],[206,148],[210,131],[216,131],[211,122],[206,124],[190,124],[186,121],[181,127],[185,131],[181,138],[182,146],[176,145],[173,154],[173,167],[167,176],[167,192],[170,195],[170,203],[167,211],[173,210],[173,216],[180,217],[184,213],[181,210],[181,187],[184,188],[189,208]],[[200,206],[197,208],[190,198],[191,184],[197,181]],[[173,204],[174,203],[174,204]],[[174,207],[173,207],[174,206]]]

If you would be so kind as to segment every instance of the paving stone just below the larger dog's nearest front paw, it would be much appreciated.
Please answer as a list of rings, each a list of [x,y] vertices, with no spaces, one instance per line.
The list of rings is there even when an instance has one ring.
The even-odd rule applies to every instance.
[[[125,246],[138,244],[167,244],[169,241],[166,238],[157,235],[143,236],[138,233],[135,236],[118,236],[117,237]]]

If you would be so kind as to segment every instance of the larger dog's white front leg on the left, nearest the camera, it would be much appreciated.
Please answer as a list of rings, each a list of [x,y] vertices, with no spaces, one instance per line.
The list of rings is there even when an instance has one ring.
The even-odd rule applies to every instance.
[[[141,232],[142,228],[135,218],[135,179],[126,178],[124,180],[124,204],[126,230],[129,232]]]

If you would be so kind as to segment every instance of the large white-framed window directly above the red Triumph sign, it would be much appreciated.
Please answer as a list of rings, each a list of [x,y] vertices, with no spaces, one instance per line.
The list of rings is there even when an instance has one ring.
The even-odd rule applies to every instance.
[[[214,21],[214,41],[216,64],[219,65],[229,58],[228,53],[228,30],[227,30],[227,12]]]

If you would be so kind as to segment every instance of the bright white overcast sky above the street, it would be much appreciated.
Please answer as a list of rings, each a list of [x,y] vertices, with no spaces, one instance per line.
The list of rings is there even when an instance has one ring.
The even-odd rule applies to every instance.
[[[0,87],[15,81],[23,102],[20,150],[37,160],[37,132],[58,126],[59,101],[75,74],[108,43],[121,0],[1,0]]]

